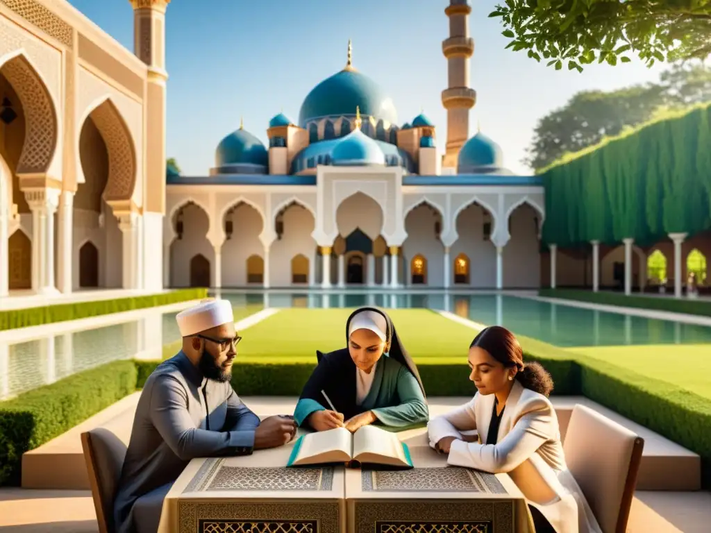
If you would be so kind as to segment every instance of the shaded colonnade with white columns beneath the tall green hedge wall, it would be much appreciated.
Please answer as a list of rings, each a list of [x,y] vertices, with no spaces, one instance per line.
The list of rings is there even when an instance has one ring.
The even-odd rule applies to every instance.
[[[633,239],[618,246],[592,242],[589,247],[558,249],[541,254],[542,286],[619,289],[631,294],[673,291],[681,296],[690,274],[700,292],[709,292],[708,258],[711,231],[688,237],[670,234],[649,247]]]

